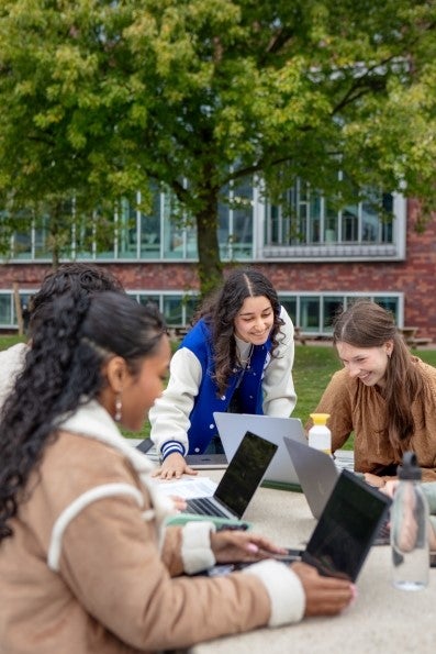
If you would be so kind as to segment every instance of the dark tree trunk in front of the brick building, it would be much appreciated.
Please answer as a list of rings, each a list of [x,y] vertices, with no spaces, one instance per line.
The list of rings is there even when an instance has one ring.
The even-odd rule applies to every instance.
[[[217,190],[209,189],[203,208],[197,213],[197,245],[199,251],[200,293],[204,298],[223,279],[217,239]]]

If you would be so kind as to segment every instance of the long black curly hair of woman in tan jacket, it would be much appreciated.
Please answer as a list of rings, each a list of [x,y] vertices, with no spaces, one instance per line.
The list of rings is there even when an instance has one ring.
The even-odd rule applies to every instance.
[[[25,500],[29,476],[60,417],[97,398],[107,380],[103,363],[122,356],[132,375],[154,354],[166,332],[155,304],[126,293],[64,293],[41,308],[23,372],[8,397],[0,423],[0,540]]]

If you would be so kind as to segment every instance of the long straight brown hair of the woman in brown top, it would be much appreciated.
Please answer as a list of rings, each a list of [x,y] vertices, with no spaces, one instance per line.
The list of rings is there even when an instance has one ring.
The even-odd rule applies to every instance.
[[[355,347],[381,347],[393,342],[385,372],[387,422],[380,433],[400,454],[415,431],[411,404],[423,391],[423,380],[390,311],[371,300],[357,300],[333,323],[333,343]]]

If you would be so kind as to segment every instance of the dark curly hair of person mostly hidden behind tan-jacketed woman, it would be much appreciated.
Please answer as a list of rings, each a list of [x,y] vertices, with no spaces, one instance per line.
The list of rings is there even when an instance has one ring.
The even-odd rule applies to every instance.
[[[41,310],[47,302],[66,292],[81,296],[103,290],[123,291],[124,289],[121,281],[101,266],[74,262],[51,270],[30,302],[30,335],[37,328]]]

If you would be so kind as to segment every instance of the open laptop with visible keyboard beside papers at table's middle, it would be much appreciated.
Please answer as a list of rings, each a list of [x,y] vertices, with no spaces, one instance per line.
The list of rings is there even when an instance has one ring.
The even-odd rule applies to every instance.
[[[275,443],[246,431],[213,496],[188,499],[185,512],[239,520],[276,451]]]

